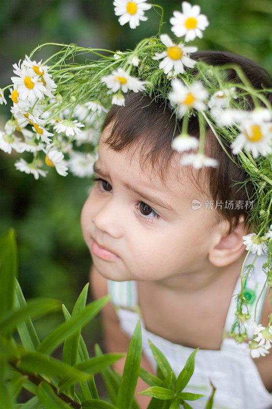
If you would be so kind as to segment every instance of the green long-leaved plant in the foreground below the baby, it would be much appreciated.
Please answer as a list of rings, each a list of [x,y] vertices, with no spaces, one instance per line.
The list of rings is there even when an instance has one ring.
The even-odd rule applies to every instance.
[[[90,358],[81,336],[85,326],[110,300],[105,296],[86,305],[88,284],[85,285],[71,314],[58,300],[37,298],[24,300],[17,277],[15,232],[10,229],[0,238],[0,408],[1,409],[139,409],[134,399],[138,377],[150,388],[140,392],[152,396],[148,409],[185,409],[185,400],[204,395],[182,392],[194,371],[197,349],[189,356],[176,378],[163,353],[150,342],[158,363],[158,376],[140,367],[141,327],[138,321],[128,349],[125,368],[120,375],[112,365],[123,353],[103,354],[95,345]],[[32,319],[60,310],[65,322],[40,341]],[[17,331],[20,343],[15,341]],[[51,354],[63,344],[63,360]],[[100,399],[94,374],[101,373],[111,403]],[[26,403],[16,403],[22,389],[31,392]],[[211,408],[212,402],[209,407]],[[208,406],[207,406],[208,407]]]

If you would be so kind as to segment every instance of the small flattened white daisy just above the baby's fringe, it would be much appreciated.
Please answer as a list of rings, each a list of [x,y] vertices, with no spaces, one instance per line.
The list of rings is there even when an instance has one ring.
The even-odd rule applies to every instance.
[[[136,77],[131,77],[121,68],[113,71],[110,75],[102,77],[101,81],[105,82],[107,87],[114,93],[116,93],[118,89],[121,89],[123,93],[127,93],[129,89],[132,89],[137,93],[144,90],[143,84],[145,84],[145,81],[141,81]]]

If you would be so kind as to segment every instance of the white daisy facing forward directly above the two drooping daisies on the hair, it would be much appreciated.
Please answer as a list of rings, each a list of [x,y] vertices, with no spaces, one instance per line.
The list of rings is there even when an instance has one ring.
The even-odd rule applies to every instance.
[[[200,82],[193,82],[190,86],[185,86],[179,79],[171,82],[172,90],[168,97],[172,105],[178,105],[178,114],[183,116],[189,108],[205,110],[204,100],[208,97],[208,92]]]

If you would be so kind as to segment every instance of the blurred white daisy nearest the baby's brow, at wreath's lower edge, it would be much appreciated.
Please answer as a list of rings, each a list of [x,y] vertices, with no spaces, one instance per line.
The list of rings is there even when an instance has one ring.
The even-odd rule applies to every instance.
[[[91,177],[93,174],[94,157],[91,153],[73,151],[70,160],[67,162],[69,170],[79,177]]]

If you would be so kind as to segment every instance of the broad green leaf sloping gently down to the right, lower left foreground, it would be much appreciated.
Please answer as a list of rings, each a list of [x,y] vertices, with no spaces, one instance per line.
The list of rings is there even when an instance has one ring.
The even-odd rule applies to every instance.
[[[20,361],[17,367],[28,372],[37,372],[47,376],[66,376],[78,382],[80,380],[88,379],[89,374],[79,371],[76,368],[70,367],[67,363],[61,362],[58,359],[41,354],[40,352],[27,351],[21,354]]]

